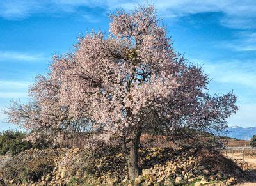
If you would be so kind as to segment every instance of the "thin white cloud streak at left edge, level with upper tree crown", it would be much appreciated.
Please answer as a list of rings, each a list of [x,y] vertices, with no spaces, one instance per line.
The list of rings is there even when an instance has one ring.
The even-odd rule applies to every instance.
[[[28,54],[24,52],[1,51],[0,61],[45,61],[49,57],[43,54]]]

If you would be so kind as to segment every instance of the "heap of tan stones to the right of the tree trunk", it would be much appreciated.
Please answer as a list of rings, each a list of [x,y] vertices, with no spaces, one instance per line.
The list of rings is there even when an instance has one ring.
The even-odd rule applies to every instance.
[[[196,150],[180,148],[178,151],[173,151],[168,148],[153,148],[141,151],[143,167],[148,167],[142,169],[144,180],[141,182],[148,185],[152,183],[179,185],[199,180],[201,184],[208,184],[223,180],[223,173],[214,169],[211,164],[202,164],[202,157],[198,156]]]

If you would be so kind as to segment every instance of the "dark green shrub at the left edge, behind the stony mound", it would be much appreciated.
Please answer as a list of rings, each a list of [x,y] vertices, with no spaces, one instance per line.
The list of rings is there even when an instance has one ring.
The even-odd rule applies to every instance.
[[[0,132],[0,155],[10,152],[11,155],[20,153],[32,147],[28,141],[22,141],[25,134],[19,131],[6,130]]]

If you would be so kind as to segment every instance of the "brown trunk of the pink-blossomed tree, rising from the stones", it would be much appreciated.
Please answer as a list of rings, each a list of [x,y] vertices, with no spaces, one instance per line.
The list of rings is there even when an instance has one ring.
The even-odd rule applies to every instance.
[[[140,133],[134,136],[131,141],[131,148],[129,155],[127,156],[128,173],[130,180],[135,180],[139,176],[139,143],[140,143]]]

